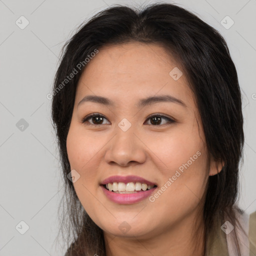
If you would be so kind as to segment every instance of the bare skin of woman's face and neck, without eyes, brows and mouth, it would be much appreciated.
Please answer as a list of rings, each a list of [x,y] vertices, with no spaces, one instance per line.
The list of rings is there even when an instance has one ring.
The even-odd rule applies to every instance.
[[[71,170],[80,175],[73,183],[75,192],[103,230],[107,256],[202,255],[204,194],[208,176],[220,171],[222,164],[207,158],[201,120],[184,72],[178,80],[169,75],[175,66],[180,67],[160,45],[125,43],[100,48],[79,79],[66,147]],[[162,94],[186,106],[136,106],[141,98]],[[85,95],[107,97],[114,105],[78,106]],[[93,118],[82,123],[90,113],[105,118],[98,125]],[[151,114],[174,122],[162,117],[155,124],[148,118]],[[123,118],[131,123],[127,131],[118,126]],[[112,175],[138,175],[160,188],[197,151],[200,156],[153,202],[146,198],[117,204],[99,186]],[[123,221],[130,226],[126,233],[118,228]]]

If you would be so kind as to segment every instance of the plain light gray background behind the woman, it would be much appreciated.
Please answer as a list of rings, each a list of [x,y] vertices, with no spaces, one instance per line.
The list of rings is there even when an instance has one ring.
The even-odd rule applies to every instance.
[[[0,0],[0,255],[63,255],[66,248],[61,252],[53,244],[63,189],[46,98],[60,48],[82,21],[108,5],[143,2]],[[256,0],[175,2],[220,31],[237,68],[245,132],[240,206],[251,213],[256,210]],[[21,15],[29,21],[24,29],[15,24]],[[234,21],[229,29],[221,24],[226,15]],[[16,126],[21,118],[28,123],[23,131]],[[21,220],[29,226],[24,234],[15,228],[24,228]]]

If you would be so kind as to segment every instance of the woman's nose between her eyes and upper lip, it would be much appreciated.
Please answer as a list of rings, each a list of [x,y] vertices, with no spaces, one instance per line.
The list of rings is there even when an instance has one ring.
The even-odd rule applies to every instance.
[[[146,159],[146,146],[137,135],[138,132],[132,126],[126,131],[117,126],[115,131],[116,134],[107,143],[105,161],[108,164],[118,164],[120,166],[143,163]]]

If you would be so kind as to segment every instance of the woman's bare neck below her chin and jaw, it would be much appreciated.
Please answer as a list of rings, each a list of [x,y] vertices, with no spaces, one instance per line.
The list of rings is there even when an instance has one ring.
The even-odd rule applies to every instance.
[[[202,256],[204,253],[204,224],[202,218],[196,226],[191,218],[166,227],[163,231],[151,231],[152,236],[115,236],[104,232],[106,256],[117,255],[166,255]]]

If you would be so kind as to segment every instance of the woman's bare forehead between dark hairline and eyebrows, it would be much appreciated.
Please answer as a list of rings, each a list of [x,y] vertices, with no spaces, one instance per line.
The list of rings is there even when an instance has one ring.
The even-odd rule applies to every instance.
[[[98,50],[80,76],[76,102],[86,94],[107,96],[121,102],[130,102],[142,95],[166,93],[182,98],[183,102],[192,100],[182,68],[162,46],[132,42]],[[170,75],[172,70],[182,75],[175,80]]]

